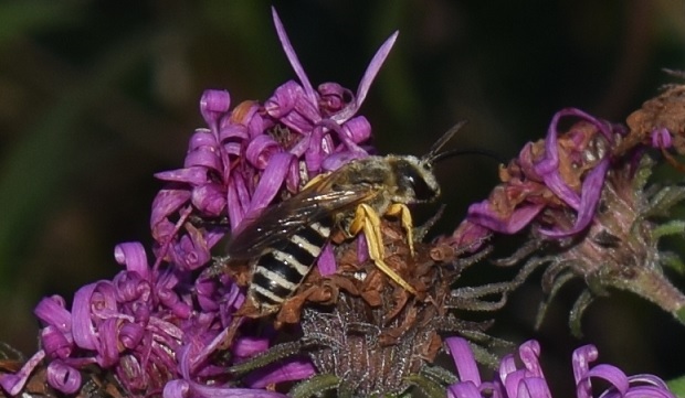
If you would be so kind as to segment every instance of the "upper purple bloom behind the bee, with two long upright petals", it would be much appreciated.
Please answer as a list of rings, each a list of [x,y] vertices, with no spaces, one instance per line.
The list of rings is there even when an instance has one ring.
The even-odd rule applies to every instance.
[[[228,92],[204,92],[200,111],[208,128],[191,137],[182,169],[156,174],[169,183],[152,204],[156,252],[181,269],[207,265],[209,250],[228,229],[196,226],[190,217],[228,220],[236,232],[244,219],[317,174],[369,153],[371,127],[356,114],[397,33],[373,56],[355,95],[336,83],[314,89],[275,11],[273,17],[299,83],[286,82],[264,104],[244,101],[232,109]]]

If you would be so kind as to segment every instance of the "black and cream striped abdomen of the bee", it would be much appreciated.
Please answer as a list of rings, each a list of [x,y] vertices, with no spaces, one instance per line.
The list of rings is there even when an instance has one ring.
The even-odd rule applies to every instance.
[[[330,236],[331,220],[298,229],[256,259],[247,297],[262,313],[276,312],[305,279]]]

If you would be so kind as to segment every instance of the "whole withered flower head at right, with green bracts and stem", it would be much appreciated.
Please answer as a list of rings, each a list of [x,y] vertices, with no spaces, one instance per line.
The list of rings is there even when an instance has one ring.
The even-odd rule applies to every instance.
[[[671,206],[685,198],[685,191],[670,186],[654,194],[644,189],[652,166],[646,149],[664,150],[673,142],[663,128],[650,130],[645,142],[635,138],[646,131],[637,119],[658,116],[647,117],[650,109],[658,108],[650,104],[629,118],[630,129],[578,109],[557,112],[545,140],[529,142],[503,166],[503,182],[486,201],[471,205],[466,219],[443,238],[457,247],[477,248],[492,234],[529,228],[527,244],[499,263],[527,259],[527,268],[549,265],[542,277],[548,298],[540,306],[538,325],[547,303],[572,277],[589,286],[570,312],[577,335],[584,309],[608,288],[636,293],[681,320],[685,295],[665,278],[662,265],[668,265],[672,256],[660,251],[657,243],[685,227],[679,220],[656,224],[654,218],[666,216]],[[562,118],[580,120],[562,131]],[[628,148],[630,142],[633,147]]]

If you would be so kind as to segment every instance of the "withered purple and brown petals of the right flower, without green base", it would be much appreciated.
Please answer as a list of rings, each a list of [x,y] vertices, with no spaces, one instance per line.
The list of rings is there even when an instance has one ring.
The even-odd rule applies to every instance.
[[[580,121],[560,132],[559,120],[565,117]],[[457,246],[478,243],[492,233],[516,234],[533,223],[548,238],[582,233],[600,201],[610,149],[624,133],[622,127],[579,109],[560,110],[546,139],[527,143],[518,158],[500,169],[503,182],[486,201],[468,207],[466,220],[446,240]]]

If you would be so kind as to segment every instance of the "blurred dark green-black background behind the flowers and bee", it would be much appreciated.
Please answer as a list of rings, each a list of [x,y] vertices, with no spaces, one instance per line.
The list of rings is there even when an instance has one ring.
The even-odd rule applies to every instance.
[[[4,1],[0,3],[0,340],[35,348],[41,297],[109,278],[115,244],[150,241],[152,173],[181,166],[203,127],[199,98],[266,99],[295,78],[267,1]],[[679,0],[274,1],[310,80],[356,89],[394,30],[399,40],[361,114],[381,152],[422,153],[462,119],[453,143],[504,159],[573,106],[623,121],[685,68]],[[450,233],[496,183],[497,164],[441,165]],[[677,178],[677,176],[676,176]],[[434,211],[434,208],[433,208]],[[424,217],[430,215],[429,212]],[[474,270],[472,270],[473,272]],[[493,277],[493,280],[496,280]],[[590,308],[570,337],[569,292],[533,332],[540,292],[514,297],[497,331],[544,344],[550,372],[593,342],[628,373],[673,377],[682,326],[628,294]],[[678,356],[679,354],[679,356]],[[566,374],[570,376],[570,374]],[[560,388],[571,388],[571,381]]]

